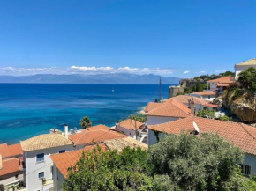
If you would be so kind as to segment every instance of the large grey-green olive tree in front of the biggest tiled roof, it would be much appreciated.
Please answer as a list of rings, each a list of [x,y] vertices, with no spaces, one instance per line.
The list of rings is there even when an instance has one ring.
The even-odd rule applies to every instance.
[[[245,190],[238,161],[242,151],[221,137],[169,135],[149,148],[156,190]],[[168,177],[167,177],[168,176]],[[166,180],[166,181],[165,181]]]

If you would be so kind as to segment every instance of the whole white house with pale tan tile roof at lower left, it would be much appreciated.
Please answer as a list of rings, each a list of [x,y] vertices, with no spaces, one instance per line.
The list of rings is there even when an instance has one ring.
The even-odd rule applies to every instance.
[[[52,190],[53,165],[50,155],[72,151],[72,141],[67,135],[45,134],[20,141],[20,144],[24,153],[26,190]]]

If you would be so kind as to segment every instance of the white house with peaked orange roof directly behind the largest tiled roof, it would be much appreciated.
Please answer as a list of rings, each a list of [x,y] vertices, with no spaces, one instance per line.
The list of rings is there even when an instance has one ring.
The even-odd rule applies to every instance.
[[[192,116],[191,109],[175,99],[166,103],[149,102],[145,108],[147,125],[155,125]]]

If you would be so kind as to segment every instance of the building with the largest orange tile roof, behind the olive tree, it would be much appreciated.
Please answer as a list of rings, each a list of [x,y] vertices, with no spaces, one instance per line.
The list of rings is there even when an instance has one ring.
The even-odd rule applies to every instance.
[[[256,173],[256,129],[243,123],[189,117],[177,121],[151,125],[147,126],[149,129],[148,145],[156,143],[157,136],[158,138],[162,138],[165,136],[164,133],[178,135],[181,132],[194,131],[193,122],[197,123],[200,133],[216,133],[244,151],[245,161],[241,165],[242,172],[245,176]]]

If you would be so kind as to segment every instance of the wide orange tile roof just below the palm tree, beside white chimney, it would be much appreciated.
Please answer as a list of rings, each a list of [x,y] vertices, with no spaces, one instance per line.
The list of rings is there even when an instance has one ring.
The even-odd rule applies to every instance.
[[[106,127],[106,126],[105,126]],[[124,134],[118,133],[116,130],[99,127],[92,127],[88,129],[81,130],[81,133],[70,135],[69,138],[73,143],[88,144],[88,143],[99,143],[109,139],[126,137]]]

